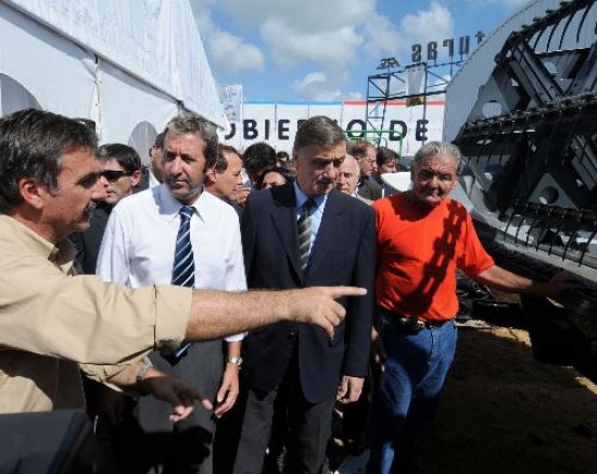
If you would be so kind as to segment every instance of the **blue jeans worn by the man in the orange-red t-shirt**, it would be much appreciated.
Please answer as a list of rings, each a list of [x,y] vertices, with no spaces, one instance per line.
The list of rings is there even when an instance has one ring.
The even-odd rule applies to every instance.
[[[369,472],[408,473],[454,360],[456,325],[416,332],[382,311],[377,328],[388,359],[373,394]]]

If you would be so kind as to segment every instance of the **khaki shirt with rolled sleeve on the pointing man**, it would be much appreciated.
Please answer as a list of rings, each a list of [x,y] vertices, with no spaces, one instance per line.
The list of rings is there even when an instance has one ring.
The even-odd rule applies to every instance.
[[[104,382],[183,339],[189,288],[69,276],[73,258],[0,215],[0,413],[82,408],[79,367]]]

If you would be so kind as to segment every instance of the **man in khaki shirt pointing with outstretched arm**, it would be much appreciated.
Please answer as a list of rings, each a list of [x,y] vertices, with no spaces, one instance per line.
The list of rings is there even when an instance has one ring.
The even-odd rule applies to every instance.
[[[331,337],[345,313],[334,299],[364,292],[132,290],[74,275],[66,238],[89,227],[94,202],[105,196],[97,140],[85,125],[50,112],[0,118],[0,413],[84,408],[81,369],[98,382],[166,398],[177,421],[196,394],[176,383],[164,387],[167,377],[147,361],[150,349],[279,321],[313,323]]]

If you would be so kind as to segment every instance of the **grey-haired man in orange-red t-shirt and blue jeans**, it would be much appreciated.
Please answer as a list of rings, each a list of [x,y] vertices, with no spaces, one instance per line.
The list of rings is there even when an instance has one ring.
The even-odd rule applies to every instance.
[[[411,189],[373,203],[373,353],[381,376],[372,404],[371,473],[416,469],[419,439],[434,417],[456,350],[457,269],[513,292],[547,296],[574,285],[562,274],[537,283],[495,265],[465,207],[447,198],[460,170],[456,146],[429,142],[415,155]]]

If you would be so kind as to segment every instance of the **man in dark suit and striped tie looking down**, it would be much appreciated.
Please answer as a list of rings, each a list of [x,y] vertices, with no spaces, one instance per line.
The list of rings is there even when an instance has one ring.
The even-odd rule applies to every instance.
[[[241,225],[250,288],[371,288],[373,213],[334,189],[345,155],[342,129],[328,117],[312,117],[294,141],[296,182],[250,196]],[[262,472],[278,397],[284,397],[289,424],[287,472],[320,473],[334,402],[358,399],[369,361],[372,292],[341,302],[346,323],[331,340],[321,330],[285,323],[245,338],[246,409],[236,473]]]

